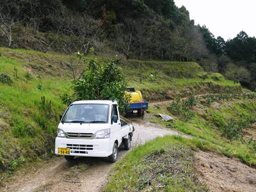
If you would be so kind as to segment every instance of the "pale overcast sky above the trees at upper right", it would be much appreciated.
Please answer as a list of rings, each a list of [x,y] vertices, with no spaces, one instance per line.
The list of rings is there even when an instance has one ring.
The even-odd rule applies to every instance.
[[[211,33],[225,40],[234,38],[240,31],[256,36],[255,0],[174,0],[177,6],[184,5],[190,19],[201,26],[205,24]]]

